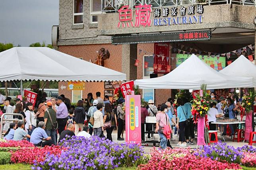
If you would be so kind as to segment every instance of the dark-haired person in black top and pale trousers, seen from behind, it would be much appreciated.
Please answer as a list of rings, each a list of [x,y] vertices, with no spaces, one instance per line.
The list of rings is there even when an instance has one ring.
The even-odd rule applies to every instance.
[[[78,103],[76,105],[76,109],[74,111],[75,113],[75,134],[78,135],[79,128],[81,131],[83,131],[83,124],[84,124],[84,119],[85,119],[85,109],[83,108],[83,101],[78,100]]]

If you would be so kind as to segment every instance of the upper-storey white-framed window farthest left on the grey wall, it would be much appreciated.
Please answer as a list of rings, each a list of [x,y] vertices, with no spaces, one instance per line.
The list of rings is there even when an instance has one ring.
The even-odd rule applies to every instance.
[[[73,24],[83,24],[83,0],[74,0]]]

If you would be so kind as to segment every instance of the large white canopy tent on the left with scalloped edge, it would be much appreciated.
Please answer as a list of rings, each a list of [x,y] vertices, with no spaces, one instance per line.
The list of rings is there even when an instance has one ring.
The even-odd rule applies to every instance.
[[[0,63],[0,82],[12,80],[21,80],[21,82],[22,80],[126,80],[126,74],[124,73],[81,60],[47,47],[11,48],[0,53]]]

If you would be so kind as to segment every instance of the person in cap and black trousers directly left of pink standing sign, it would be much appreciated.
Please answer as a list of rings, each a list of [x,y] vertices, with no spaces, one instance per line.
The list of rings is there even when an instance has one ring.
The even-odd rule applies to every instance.
[[[118,106],[116,108],[117,112],[117,122],[118,122],[118,130],[117,130],[117,140],[122,141],[124,138],[121,138],[122,131],[124,129],[124,118],[125,118],[125,112],[122,110],[122,106],[124,103],[124,98],[120,97],[117,100]]]

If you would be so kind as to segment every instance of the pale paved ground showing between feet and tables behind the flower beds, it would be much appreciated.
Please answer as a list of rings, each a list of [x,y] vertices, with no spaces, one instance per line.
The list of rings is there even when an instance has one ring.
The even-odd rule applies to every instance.
[[[104,135],[107,136],[107,132],[104,132]],[[118,141],[117,140],[117,130],[114,130],[112,132],[112,139],[113,141],[116,141],[116,142],[121,142],[121,143],[124,143],[125,142],[125,132],[124,132],[124,141]],[[158,141],[158,134],[154,134],[154,139]],[[174,139],[175,140],[171,140],[170,143],[172,145],[172,147],[178,147],[176,146],[176,144],[178,143],[178,136],[174,136]],[[223,139],[221,138],[220,135],[218,135],[218,139],[223,141]],[[228,144],[228,145],[232,145],[234,147],[242,147],[243,145],[248,145],[248,142],[237,142],[237,141],[234,141],[233,142],[233,139],[231,139],[231,137],[229,136],[224,136],[224,139],[225,139],[225,142]],[[151,139],[152,140],[152,139]],[[187,145],[187,147],[190,147],[190,148],[196,148],[196,141],[197,141],[197,136],[196,136],[196,139],[194,140],[194,145]],[[146,141],[147,142],[147,141]],[[144,146],[144,149],[147,153],[150,152],[150,150],[153,148],[153,143],[148,143],[149,146],[145,146],[145,144],[142,144],[142,146]],[[158,147],[158,143],[156,145],[156,147]],[[256,144],[253,145],[254,147],[256,147]]]

